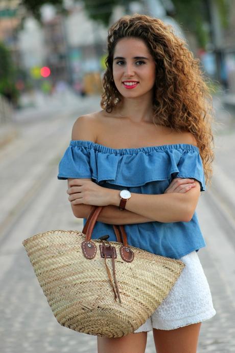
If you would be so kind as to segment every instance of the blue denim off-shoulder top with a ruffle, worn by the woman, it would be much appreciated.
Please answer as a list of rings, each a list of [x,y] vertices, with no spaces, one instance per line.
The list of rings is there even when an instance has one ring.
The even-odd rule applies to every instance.
[[[143,194],[162,194],[177,177],[193,178],[200,183],[201,191],[206,190],[198,147],[179,143],[116,149],[71,140],[59,162],[57,176],[90,178],[106,188]],[[153,221],[124,227],[129,245],[162,256],[178,259],[205,246],[196,211],[190,222]],[[92,238],[106,234],[109,241],[116,241],[112,225],[97,222]]]

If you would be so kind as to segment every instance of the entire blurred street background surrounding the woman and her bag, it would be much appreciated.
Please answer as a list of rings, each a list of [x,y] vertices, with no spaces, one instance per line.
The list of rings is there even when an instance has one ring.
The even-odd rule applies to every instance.
[[[78,116],[100,110],[108,27],[133,13],[173,26],[213,95],[214,175],[197,214],[207,244],[198,255],[217,315],[202,323],[198,353],[235,353],[234,0],[0,0],[1,353],[97,352],[95,336],[58,324],[22,240],[82,230],[58,162]],[[146,353],[154,352],[150,332]]]

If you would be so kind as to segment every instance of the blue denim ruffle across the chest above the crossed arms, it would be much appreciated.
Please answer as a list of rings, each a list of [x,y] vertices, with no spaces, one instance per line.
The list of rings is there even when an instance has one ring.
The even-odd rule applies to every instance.
[[[193,178],[205,191],[199,148],[186,143],[139,148],[110,148],[84,140],[71,140],[59,163],[58,179],[89,178],[136,187],[174,178]]]

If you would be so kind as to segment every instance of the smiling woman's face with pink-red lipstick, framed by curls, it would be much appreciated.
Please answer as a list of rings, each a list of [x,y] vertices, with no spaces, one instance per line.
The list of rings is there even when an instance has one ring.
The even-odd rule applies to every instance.
[[[113,80],[123,97],[135,98],[152,91],[155,61],[145,42],[139,38],[122,38],[113,55]]]

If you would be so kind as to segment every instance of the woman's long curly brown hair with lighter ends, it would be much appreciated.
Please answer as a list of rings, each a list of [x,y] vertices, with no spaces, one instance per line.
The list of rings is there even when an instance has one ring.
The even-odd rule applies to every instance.
[[[106,71],[103,76],[101,107],[111,113],[122,100],[112,73],[116,43],[124,37],[137,37],[146,43],[156,63],[153,87],[153,123],[175,131],[190,131],[197,140],[206,183],[212,177],[214,138],[213,105],[199,59],[186,48],[170,25],[147,15],[125,15],[108,31]]]

